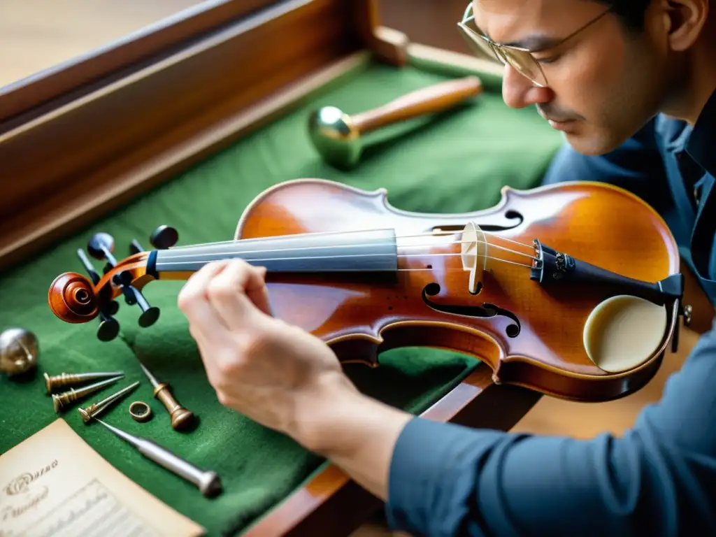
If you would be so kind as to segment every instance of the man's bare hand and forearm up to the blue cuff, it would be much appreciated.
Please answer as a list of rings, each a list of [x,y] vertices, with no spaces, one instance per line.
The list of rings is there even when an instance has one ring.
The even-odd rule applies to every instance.
[[[219,401],[386,499],[392,450],[412,415],[359,393],[321,339],[274,318],[264,276],[245,261],[210,263],[178,296]]]

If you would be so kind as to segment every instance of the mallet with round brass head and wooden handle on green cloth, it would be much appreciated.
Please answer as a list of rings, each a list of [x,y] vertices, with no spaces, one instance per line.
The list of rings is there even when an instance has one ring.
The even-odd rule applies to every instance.
[[[481,92],[482,82],[470,75],[417,89],[387,105],[355,115],[333,106],[321,107],[309,117],[309,136],[326,163],[337,168],[352,168],[360,160],[363,136],[368,132],[448,110]]]

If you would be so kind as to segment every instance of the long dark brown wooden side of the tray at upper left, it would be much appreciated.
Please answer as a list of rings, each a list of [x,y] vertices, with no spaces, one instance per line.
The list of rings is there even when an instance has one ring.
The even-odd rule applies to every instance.
[[[375,14],[361,4],[369,5],[274,1],[91,84],[84,80],[100,59],[118,49],[92,56],[88,74],[79,64],[68,67],[74,74],[48,75],[58,88],[72,87],[74,97],[58,94],[29,110],[18,105],[0,124],[0,269],[281,112],[295,84],[364,46]],[[306,27],[314,28],[312,37]],[[34,87],[26,90],[26,99],[6,94],[0,107],[37,101]],[[177,98],[166,99],[170,93]]]

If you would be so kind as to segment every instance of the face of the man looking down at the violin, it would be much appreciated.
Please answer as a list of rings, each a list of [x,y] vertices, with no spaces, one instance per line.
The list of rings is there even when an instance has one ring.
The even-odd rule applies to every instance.
[[[531,50],[541,39],[568,37],[607,8],[589,0],[473,0],[481,33]],[[608,13],[567,42],[534,52],[546,87],[506,67],[505,103],[536,105],[580,153],[614,150],[659,112],[669,92],[664,19],[655,16],[647,13],[647,28],[637,34]]]

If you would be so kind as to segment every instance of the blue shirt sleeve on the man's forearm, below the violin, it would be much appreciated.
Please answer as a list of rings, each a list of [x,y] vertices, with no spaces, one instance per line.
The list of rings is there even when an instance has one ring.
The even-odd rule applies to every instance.
[[[387,518],[415,537],[716,535],[715,424],[712,329],[621,437],[413,418],[392,457]]]

